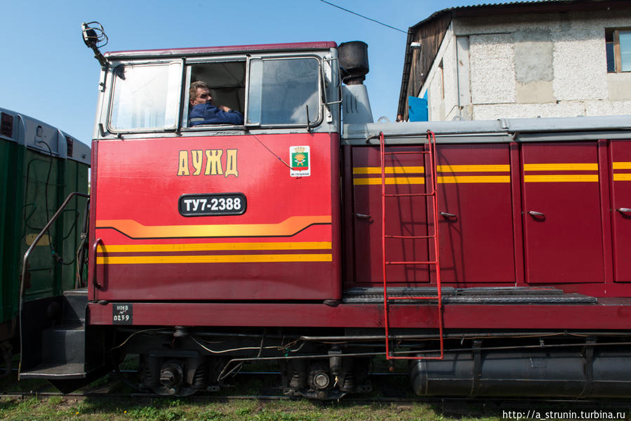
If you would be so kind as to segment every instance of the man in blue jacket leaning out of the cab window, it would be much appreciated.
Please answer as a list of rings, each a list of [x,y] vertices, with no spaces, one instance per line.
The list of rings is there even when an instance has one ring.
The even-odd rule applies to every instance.
[[[189,114],[190,127],[198,124],[234,124],[235,126],[243,124],[244,118],[240,112],[224,105],[215,107],[213,97],[205,82],[191,83],[189,93],[192,106]]]

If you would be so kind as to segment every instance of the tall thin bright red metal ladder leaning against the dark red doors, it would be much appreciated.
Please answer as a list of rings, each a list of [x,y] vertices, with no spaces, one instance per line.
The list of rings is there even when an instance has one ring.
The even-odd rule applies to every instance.
[[[442,297],[440,287],[440,267],[439,267],[439,248],[438,248],[438,203],[437,203],[437,177],[436,177],[436,137],[432,131],[427,131],[427,143],[423,147],[423,151],[419,152],[385,152],[385,136],[383,133],[379,133],[379,147],[381,154],[381,256],[383,263],[383,316],[385,326],[385,354],[386,359],[443,359],[444,345],[443,345],[443,315],[442,315]],[[386,194],[385,193],[385,156],[386,155],[401,155],[401,154],[420,154],[421,156],[428,155],[430,161],[430,168],[425,173],[428,173],[431,178],[431,183],[426,184],[424,193],[407,193],[407,194]],[[433,234],[426,236],[404,236],[404,235],[387,235],[385,233],[385,199],[387,197],[399,197],[399,196],[426,196],[428,203],[431,206],[432,218],[434,221]],[[427,239],[434,243],[434,260],[428,261],[404,261],[404,262],[389,262],[385,258],[385,241],[386,239]],[[387,265],[428,265],[428,267],[434,266],[436,270],[436,283],[437,294],[430,296],[414,297],[414,296],[388,296],[387,295],[387,281],[386,281],[386,267]],[[388,320],[388,302],[390,300],[437,300],[438,302],[438,329],[439,329],[439,341],[440,341],[440,356],[394,356],[390,355],[390,321]]]

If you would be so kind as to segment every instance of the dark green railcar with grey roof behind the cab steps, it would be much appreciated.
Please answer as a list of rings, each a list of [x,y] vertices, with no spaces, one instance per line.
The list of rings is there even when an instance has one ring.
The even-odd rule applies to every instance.
[[[18,338],[22,258],[71,192],[88,193],[90,148],[58,128],[0,108],[0,350]],[[86,199],[76,197],[32,251],[24,300],[76,287]]]

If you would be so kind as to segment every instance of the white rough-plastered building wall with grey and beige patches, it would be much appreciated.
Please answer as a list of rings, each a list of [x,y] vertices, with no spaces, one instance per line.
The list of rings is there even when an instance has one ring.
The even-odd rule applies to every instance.
[[[631,72],[607,73],[617,27],[630,12],[454,18],[420,92],[429,119],[631,114]]]

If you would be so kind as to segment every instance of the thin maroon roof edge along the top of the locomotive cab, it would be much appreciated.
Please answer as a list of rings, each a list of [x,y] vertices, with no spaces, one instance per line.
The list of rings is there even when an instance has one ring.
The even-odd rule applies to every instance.
[[[333,41],[292,42],[284,44],[254,44],[249,46],[219,46],[193,48],[161,48],[157,50],[110,51],[105,58],[145,58],[145,57],[182,57],[191,55],[217,55],[226,53],[252,53],[272,51],[309,51],[336,48]]]

